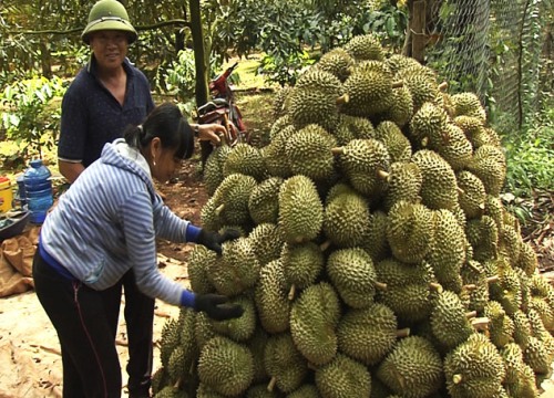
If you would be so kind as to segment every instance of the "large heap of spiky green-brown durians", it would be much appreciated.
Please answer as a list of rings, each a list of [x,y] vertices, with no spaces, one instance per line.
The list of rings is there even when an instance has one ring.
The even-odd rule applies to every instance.
[[[156,397],[536,397],[554,290],[500,192],[506,163],[470,92],[371,34],[278,92],[270,143],[208,158],[191,287],[245,308],[182,310]]]

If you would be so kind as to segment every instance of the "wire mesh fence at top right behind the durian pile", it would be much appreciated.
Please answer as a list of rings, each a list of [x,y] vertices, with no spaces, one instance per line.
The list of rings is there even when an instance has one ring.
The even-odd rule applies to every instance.
[[[443,0],[431,2],[428,25],[438,38],[428,64],[451,92],[471,91],[496,123],[522,127],[541,107],[548,1]],[[552,61],[552,60],[551,60]],[[543,78],[542,78],[543,77]],[[547,90],[547,87],[546,87]]]

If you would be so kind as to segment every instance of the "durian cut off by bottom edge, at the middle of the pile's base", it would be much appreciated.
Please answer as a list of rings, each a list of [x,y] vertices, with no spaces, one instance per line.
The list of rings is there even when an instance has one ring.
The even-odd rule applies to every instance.
[[[371,374],[359,362],[342,355],[316,369],[316,386],[325,398],[369,397]]]

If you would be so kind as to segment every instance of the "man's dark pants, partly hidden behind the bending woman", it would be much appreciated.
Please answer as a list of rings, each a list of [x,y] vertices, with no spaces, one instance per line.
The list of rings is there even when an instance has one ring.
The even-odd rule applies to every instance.
[[[150,390],[153,358],[154,300],[136,287],[133,271],[101,292],[115,339],[120,315],[121,290],[125,292],[125,323],[129,339],[129,392],[131,397],[146,397]]]

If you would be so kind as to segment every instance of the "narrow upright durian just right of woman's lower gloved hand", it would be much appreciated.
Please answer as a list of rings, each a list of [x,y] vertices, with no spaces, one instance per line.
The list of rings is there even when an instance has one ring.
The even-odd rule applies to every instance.
[[[255,297],[259,322],[266,332],[281,333],[288,329],[291,305],[288,291],[280,259],[269,262],[260,270]]]

